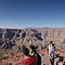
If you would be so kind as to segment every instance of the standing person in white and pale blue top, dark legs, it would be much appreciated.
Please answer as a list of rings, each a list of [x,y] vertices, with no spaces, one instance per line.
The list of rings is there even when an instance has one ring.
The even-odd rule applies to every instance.
[[[49,58],[50,58],[50,62],[51,62],[51,65],[54,65],[54,44],[53,44],[53,41],[50,42],[49,44]]]

